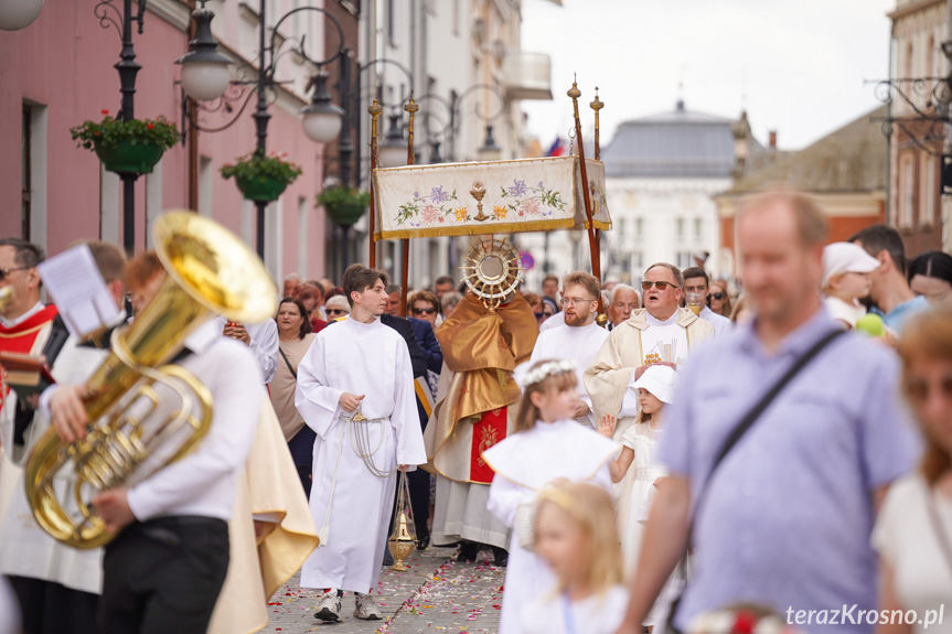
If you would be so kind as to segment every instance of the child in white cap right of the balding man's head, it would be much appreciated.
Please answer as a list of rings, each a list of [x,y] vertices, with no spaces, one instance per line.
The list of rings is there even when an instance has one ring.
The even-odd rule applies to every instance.
[[[879,260],[853,243],[833,243],[823,247],[823,305],[826,312],[847,330],[866,314],[859,300],[869,294],[869,273]]]

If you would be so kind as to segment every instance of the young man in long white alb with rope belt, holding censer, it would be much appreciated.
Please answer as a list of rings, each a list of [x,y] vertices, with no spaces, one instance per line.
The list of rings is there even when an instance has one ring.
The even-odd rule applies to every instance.
[[[352,265],[343,288],[350,316],[324,329],[298,366],[295,405],[317,432],[311,513],[321,547],[301,585],[327,589],[314,614],[339,621],[344,590],[357,619],[379,619],[370,590],[384,558],[396,471],[426,462],[403,337],[379,321],[387,275]]]

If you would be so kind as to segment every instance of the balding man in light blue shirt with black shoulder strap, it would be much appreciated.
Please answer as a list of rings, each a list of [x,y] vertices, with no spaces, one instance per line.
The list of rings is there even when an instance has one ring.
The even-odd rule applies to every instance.
[[[665,411],[657,454],[671,476],[651,509],[621,632],[640,631],[684,555],[702,490],[680,630],[698,614],[755,603],[783,619],[839,611],[835,623],[828,612],[823,623],[794,623],[811,633],[871,632],[856,617],[876,608],[869,535],[886,487],[912,468],[917,451],[896,400],[898,363],[887,348],[852,334],[831,343],[704,488],[730,431],[795,359],[838,327],[816,292],[823,213],[804,196],[772,192],[748,202],[736,222],[740,273],[758,316],[678,372],[680,397]]]

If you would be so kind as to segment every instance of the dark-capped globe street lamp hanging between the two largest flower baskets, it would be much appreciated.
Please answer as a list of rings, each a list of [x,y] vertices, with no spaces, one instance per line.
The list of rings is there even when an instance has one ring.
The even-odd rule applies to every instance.
[[[182,66],[182,89],[196,101],[217,99],[232,80],[228,72],[232,60],[218,53],[218,42],[212,35],[214,17],[202,0],[202,8],[192,11],[195,20],[195,39],[190,42],[192,51],[175,61]]]

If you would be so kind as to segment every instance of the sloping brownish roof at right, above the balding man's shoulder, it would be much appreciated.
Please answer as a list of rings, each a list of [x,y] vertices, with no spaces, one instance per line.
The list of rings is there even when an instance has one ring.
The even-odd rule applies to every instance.
[[[778,155],[748,171],[728,193],[751,192],[771,183],[787,183],[806,192],[871,192],[886,189],[886,138],[871,117],[886,106],[849,121],[812,146]]]

